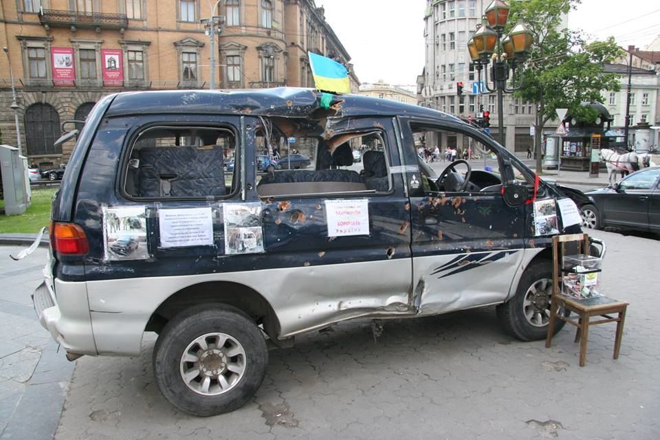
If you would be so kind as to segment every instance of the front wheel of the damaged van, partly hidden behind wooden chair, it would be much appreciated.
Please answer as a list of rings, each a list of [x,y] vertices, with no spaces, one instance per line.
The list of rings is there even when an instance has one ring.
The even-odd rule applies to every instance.
[[[497,306],[497,317],[504,330],[516,339],[545,339],[550,316],[552,263],[540,260],[527,267],[520,277],[516,295]],[[555,334],[566,322],[555,320]]]

